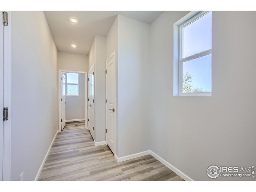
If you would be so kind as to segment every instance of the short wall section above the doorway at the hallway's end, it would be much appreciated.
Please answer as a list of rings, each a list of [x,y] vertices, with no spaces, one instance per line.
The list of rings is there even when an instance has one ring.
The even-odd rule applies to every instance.
[[[88,62],[87,55],[58,52],[58,69],[88,72]]]

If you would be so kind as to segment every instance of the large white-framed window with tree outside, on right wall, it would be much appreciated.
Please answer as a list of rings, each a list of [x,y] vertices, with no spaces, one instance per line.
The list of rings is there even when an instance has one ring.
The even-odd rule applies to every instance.
[[[179,26],[179,95],[211,96],[212,12]]]

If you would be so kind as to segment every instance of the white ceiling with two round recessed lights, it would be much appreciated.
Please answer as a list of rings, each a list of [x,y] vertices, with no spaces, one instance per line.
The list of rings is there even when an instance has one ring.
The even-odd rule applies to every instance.
[[[162,11],[45,11],[58,51],[88,55],[95,35],[107,36],[116,15],[151,24]],[[71,23],[70,17],[78,19]],[[72,48],[71,44],[76,44]]]

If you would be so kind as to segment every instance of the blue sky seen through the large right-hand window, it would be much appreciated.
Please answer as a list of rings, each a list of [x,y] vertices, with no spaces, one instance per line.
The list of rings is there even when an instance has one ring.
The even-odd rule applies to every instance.
[[[212,12],[183,28],[183,58],[212,49]],[[183,62],[183,77],[190,88],[183,92],[212,92],[212,54]],[[187,87],[187,86],[186,86]]]

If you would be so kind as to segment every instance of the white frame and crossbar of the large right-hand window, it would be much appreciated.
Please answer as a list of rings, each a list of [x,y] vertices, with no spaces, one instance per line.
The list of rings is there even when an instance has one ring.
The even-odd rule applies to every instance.
[[[202,11],[179,26],[179,96],[212,96],[212,92],[183,92],[183,62],[212,54],[212,49],[183,58],[183,28],[211,11]]]

